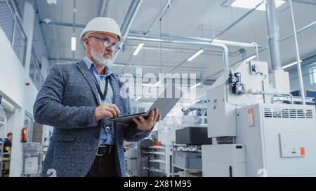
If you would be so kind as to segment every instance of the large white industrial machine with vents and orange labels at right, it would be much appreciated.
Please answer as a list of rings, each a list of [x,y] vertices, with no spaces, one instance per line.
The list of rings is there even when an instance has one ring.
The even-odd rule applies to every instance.
[[[207,92],[203,176],[316,176],[315,106],[294,105],[289,92],[289,74],[269,77],[266,62],[225,71]]]

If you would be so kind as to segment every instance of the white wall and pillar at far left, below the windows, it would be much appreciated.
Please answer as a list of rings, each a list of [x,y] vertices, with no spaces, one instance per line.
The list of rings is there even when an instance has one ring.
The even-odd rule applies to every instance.
[[[10,176],[20,176],[22,173],[21,129],[24,125],[25,111],[33,113],[38,91],[15,55],[1,27],[0,57],[0,94],[16,108],[14,115],[8,118],[6,124],[6,127],[13,132]],[[26,86],[25,83],[30,83],[30,85]]]

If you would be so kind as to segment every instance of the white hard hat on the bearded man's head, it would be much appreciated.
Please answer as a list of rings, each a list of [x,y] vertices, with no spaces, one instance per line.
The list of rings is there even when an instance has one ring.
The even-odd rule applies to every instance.
[[[84,43],[84,35],[92,31],[112,34],[117,36],[119,41],[123,40],[121,37],[121,29],[119,29],[119,25],[114,19],[110,17],[95,17],[93,20],[89,21],[80,34],[81,43]]]

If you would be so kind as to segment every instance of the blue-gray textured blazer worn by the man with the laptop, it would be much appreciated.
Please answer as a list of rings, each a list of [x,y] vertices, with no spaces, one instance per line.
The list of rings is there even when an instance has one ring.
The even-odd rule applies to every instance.
[[[129,97],[120,94],[124,84],[114,75],[110,83],[113,104],[121,115],[130,115]],[[95,120],[94,113],[99,104],[96,84],[83,60],[51,66],[33,108],[36,122],[54,127],[41,176],[86,176],[98,150],[101,123]],[[108,118],[103,120],[110,123]],[[140,132],[135,123],[117,123],[113,128],[115,165],[119,176],[125,176],[124,140],[141,141],[150,131]]]

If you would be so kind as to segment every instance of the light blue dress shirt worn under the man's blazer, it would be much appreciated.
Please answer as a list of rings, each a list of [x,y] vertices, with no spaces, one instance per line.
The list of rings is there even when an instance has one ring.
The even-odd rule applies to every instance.
[[[104,92],[105,90],[105,78],[110,75],[114,75],[108,67],[105,67],[105,75],[100,75],[98,70],[96,69],[96,65],[93,64],[91,59],[88,57],[84,57],[84,62],[86,63],[86,66],[88,67],[88,70],[91,72],[91,75],[93,74],[93,78],[98,81],[98,84],[100,85],[101,92]],[[98,94],[98,99],[101,104],[103,103],[111,103],[113,101],[113,90],[112,86],[109,80],[109,84],[107,85],[107,96],[105,97],[105,100],[102,100],[100,95]],[[101,134],[99,139],[99,146],[102,144],[107,145],[114,145],[114,127],[110,129],[109,127],[102,127],[101,128]]]

